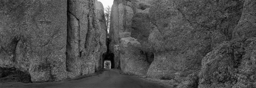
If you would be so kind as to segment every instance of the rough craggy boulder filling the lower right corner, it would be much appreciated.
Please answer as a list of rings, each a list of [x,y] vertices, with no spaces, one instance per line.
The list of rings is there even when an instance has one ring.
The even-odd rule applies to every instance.
[[[199,88],[256,87],[254,51],[256,38],[224,42],[202,59]]]

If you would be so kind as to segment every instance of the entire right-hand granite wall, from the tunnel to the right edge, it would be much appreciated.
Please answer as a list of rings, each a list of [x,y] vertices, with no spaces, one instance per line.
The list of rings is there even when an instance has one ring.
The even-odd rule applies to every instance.
[[[255,50],[255,1],[115,0],[112,10],[109,47],[123,72],[139,69],[137,57],[127,59],[138,55],[127,52],[142,51],[147,77],[181,78],[180,88],[255,85],[248,61]],[[141,47],[125,47],[135,42]]]

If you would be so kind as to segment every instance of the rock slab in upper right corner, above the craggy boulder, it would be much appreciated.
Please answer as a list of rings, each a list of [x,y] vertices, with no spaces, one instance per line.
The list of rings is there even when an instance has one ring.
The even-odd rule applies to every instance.
[[[234,29],[233,39],[246,38],[256,36],[256,1],[245,0],[243,5],[243,13]]]

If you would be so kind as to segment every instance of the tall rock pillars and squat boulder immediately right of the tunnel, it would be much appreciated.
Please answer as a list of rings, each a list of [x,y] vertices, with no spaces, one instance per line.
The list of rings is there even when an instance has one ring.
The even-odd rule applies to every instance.
[[[148,17],[149,10],[145,10],[149,8],[148,1],[114,0],[112,5],[109,31],[110,52],[115,55],[115,68],[120,68],[127,74],[145,75],[149,68],[146,53],[142,51],[140,44],[147,43],[147,37],[150,34],[150,29],[147,29],[151,27]],[[144,28],[144,30],[139,28]],[[131,36],[137,39],[131,39]],[[132,43],[132,46],[127,47],[129,42]],[[138,53],[141,51],[143,53]]]

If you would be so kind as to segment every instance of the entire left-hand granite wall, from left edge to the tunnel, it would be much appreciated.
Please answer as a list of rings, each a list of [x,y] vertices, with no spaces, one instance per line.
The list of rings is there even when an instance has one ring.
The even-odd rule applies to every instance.
[[[0,1],[0,67],[28,73],[32,82],[94,73],[106,51],[103,7],[95,5],[94,0]]]

